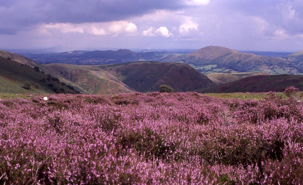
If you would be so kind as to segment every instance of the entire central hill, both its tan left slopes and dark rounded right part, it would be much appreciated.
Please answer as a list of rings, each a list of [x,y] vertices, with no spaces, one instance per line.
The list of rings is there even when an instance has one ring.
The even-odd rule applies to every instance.
[[[71,64],[47,66],[94,94],[159,91],[162,84],[171,86],[176,92],[215,85],[205,75],[187,64],[144,61],[97,66]]]

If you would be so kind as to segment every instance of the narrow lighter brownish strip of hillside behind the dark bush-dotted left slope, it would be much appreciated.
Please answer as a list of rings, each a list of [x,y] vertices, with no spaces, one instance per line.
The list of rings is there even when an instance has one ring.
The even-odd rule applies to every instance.
[[[31,67],[37,66],[41,71],[44,71],[45,74],[50,74],[50,75],[58,78],[60,81],[66,83],[66,84],[72,85],[73,87],[75,87],[75,89],[77,91],[80,91],[82,93],[87,93],[87,91],[85,91],[83,88],[79,87],[77,84],[74,84],[73,82],[68,81],[65,78],[62,78],[62,76],[58,75],[54,70],[46,67],[45,65],[39,64],[39,63],[29,59],[29,58],[26,58],[22,55],[18,55],[18,54],[12,53],[12,52],[0,50],[0,57],[11,58],[11,60],[13,60],[13,61],[19,62],[21,64],[27,64]]]

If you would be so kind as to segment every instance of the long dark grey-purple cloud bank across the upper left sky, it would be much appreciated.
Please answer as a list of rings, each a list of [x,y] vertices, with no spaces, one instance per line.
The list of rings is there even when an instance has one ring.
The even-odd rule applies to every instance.
[[[115,21],[182,7],[186,7],[183,0],[0,0],[0,34],[15,34],[41,23]]]

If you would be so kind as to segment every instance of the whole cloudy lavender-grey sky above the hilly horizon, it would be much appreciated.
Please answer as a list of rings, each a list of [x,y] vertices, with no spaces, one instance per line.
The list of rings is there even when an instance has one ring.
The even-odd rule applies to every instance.
[[[303,51],[302,0],[0,0],[0,49]]]

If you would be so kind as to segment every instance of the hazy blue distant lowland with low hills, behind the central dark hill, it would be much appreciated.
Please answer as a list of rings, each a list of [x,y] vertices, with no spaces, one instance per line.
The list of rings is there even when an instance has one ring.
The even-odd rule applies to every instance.
[[[165,60],[163,58],[175,58],[188,52],[174,51],[140,51],[135,53],[128,49],[119,49],[117,51],[67,51],[62,53],[32,53],[28,52],[25,55],[32,60],[43,63],[64,63],[78,65],[102,65],[102,64],[117,64],[133,61],[165,61],[174,62],[174,60]]]

